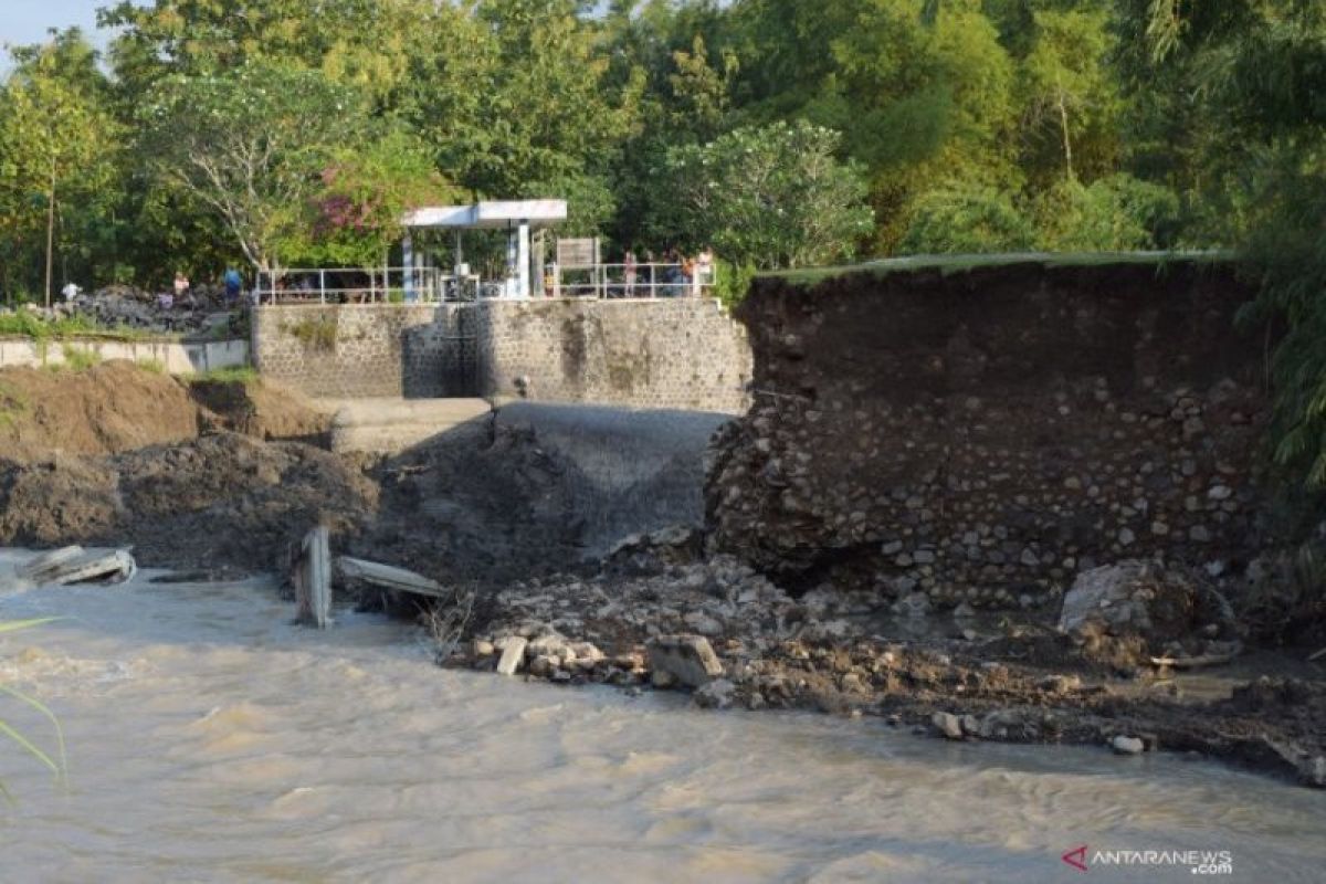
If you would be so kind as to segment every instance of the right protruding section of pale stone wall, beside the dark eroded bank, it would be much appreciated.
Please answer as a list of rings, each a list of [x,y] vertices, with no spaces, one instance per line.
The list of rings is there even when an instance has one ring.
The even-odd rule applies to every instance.
[[[492,301],[475,325],[484,395],[728,414],[747,406],[745,330],[709,298]]]

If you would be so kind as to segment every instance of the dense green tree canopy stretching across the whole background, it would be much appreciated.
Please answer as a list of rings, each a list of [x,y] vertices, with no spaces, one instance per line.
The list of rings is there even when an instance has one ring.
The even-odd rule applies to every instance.
[[[77,32],[13,50],[4,285],[44,282],[50,188],[21,122],[41,82],[82,121],[64,118],[60,150],[101,176],[54,196],[60,274],[84,284],[379,256],[391,225],[329,227],[328,207],[371,203],[377,217],[439,192],[564,196],[568,233],[707,243],[769,268],[1233,244],[1258,209],[1231,182],[1265,158],[1209,134],[1197,81],[1213,40],[1311,4],[1209,5],[1177,3],[1167,24],[1151,0],[117,0],[99,62]],[[1242,76],[1288,76],[1296,57]],[[1225,94],[1240,126],[1286,113]],[[753,182],[765,160],[777,195]],[[721,167],[708,195],[705,163]],[[354,193],[326,192],[332,168]],[[793,195],[793,170],[822,176]]]

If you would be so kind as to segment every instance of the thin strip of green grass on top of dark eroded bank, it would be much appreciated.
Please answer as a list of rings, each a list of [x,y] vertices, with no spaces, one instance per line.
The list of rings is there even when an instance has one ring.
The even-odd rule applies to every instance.
[[[841,266],[805,268],[761,273],[758,278],[777,278],[793,285],[815,285],[849,273],[908,273],[937,270],[944,276],[984,268],[1034,264],[1045,268],[1107,266],[1118,264],[1155,265],[1158,269],[1176,261],[1225,261],[1229,252],[1008,252],[997,254],[912,254],[896,258],[878,258]]]

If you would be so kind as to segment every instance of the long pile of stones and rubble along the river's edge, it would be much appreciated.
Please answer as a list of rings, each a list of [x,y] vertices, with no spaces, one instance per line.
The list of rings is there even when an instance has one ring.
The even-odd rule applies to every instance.
[[[1079,595],[1102,586],[1113,594],[1074,598],[1066,631],[981,622],[968,607],[957,616],[912,612],[948,628],[910,639],[878,616],[869,592],[822,587],[793,598],[733,557],[688,559],[691,539],[680,530],[643,535],[593,577],[512,583],[481,604],[471,640],[448,644],[439,661],[554,684],[688,691],[712,709],[871,716],[947,740],[1209,753],[1326,786],[1319,685],[1270,680],[1203,702],[1184,697],[1167,661],[1130,667],[1123,680],[1095,665],[1082,630],[1159,640],[1201,623],[1204,604],[1181,575],[1140,563],[1114,569],[1116,579],[1095,575]],[[1216,647],[1197,634],[1185,634],[1184,647]],[[1301,705],[1268,721],[1268,706],[1285,697]]]

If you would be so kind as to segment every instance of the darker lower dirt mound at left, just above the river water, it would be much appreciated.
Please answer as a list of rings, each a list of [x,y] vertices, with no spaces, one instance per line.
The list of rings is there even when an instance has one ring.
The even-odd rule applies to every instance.
[[[271,570],[310,526],[358,533],[377,504],[334,455],[217,433],[0,467],[0,545],[131,543],[147,566]]]

